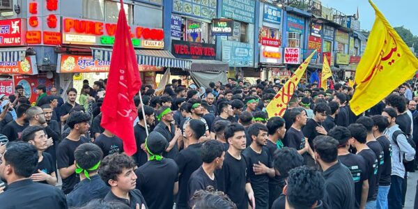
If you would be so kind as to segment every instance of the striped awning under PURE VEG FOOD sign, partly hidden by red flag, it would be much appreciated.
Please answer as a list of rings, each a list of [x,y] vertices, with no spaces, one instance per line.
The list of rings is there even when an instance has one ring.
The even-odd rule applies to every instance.
[[[112,49],[91,47],[93,59],[101,61],[111,60]],[[192,61],[178,59],[166,50],[135,50],[137,62],[139,65],[153,65],[165,68],[183,68],[189,70],[192,67]]]

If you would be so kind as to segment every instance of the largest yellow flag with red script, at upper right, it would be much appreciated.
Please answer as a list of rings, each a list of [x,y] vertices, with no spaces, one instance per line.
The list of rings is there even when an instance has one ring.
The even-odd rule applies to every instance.
[[[350,107],[357,116],[412,78],[418,69],[417,58],[376,5],[371,0],[369,3],[376,12],[376,20],[355,74],[357,88]]]

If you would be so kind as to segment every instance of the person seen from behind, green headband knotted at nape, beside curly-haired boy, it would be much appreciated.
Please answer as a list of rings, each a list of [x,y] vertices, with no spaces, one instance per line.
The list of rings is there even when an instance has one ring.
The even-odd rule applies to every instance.
[[[174,160],[162,157],[167,140],[159,132],[151,132],[145,141],[148,162],[139,167],[137,189],[144,194],[150,208],[173,208],[173,196],[178,192],[178,166]]]

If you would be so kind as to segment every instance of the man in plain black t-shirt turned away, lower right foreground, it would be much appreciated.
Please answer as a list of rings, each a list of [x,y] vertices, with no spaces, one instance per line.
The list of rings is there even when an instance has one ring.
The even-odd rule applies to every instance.
[[[354,181],[350,170],[338,161],[336,139],[318,136],[314,139],[316,161],[323,169],[325,191],[330,208],[354,208]]]

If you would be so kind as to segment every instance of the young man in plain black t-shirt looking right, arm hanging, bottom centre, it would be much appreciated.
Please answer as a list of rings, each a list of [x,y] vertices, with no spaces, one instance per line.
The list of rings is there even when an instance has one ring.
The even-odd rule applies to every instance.
[[[248,203],[255,207],[254,192],[247,175],[247,162],[242,150],[245,150],[245,129],[239,123],[232,123],[226,127],[225,139],[229,149],[225,153],[224,166],[217,176],[218,189],[225,192],[238,209],[247,209]]]

